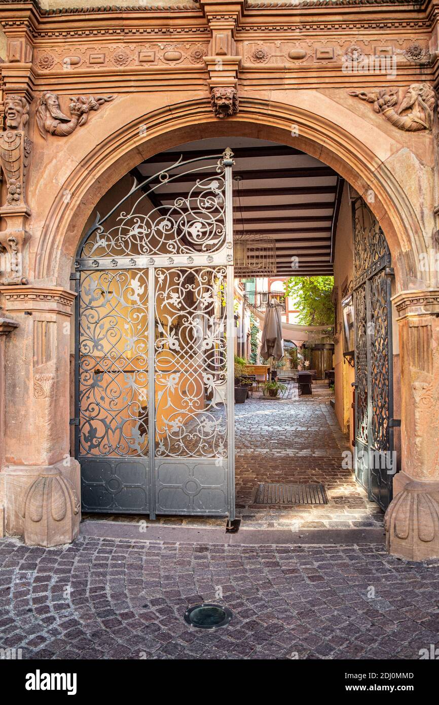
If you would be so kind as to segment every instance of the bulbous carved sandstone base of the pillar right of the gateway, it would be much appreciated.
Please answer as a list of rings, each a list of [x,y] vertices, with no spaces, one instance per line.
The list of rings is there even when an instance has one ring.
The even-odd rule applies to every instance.
[[[407,560],[439,558],[439,482],[398,475],[404,476],[398,478],[401,489],[384,517],[388,551]]]

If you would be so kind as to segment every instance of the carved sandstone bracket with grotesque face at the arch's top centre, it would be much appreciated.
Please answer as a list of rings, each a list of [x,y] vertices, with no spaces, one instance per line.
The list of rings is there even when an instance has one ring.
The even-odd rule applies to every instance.
[[[211,106],[217,118],[228,118],[239,110],[237,78],[241,57],[237,56],[235,30],[243,9],[240,0],[216,4],[202,0],[211,30],[209,56],[204,57],[209,71]]]

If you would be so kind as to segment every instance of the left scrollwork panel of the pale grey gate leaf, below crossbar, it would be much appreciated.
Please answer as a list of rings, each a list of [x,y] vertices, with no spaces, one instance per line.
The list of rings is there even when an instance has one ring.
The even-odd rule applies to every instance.
[[[82,271],[77,457],[85,511],[149,510],[148,275]]]

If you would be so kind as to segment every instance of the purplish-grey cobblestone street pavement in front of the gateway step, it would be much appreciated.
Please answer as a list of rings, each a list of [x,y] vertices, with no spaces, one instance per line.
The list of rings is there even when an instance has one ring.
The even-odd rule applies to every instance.
[[[439,644],[438,563],[371,544],[6,539],[0,566],[1,648],[22,658],[417,659]],[[230,624],[186,625],[202,601],[228,606]]]

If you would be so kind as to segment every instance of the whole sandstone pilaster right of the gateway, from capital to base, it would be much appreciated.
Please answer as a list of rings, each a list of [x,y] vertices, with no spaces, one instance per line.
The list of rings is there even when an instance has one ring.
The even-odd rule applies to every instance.
[[[402,472],[385,513],[388,550],[439,558],[439,290],[404,291],[399,314]]]

